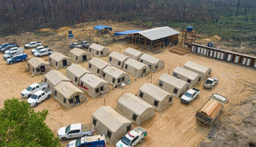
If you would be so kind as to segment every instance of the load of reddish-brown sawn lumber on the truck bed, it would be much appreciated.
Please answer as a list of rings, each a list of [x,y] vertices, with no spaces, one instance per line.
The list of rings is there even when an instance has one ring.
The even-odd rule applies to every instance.
[[[216,114],[222,108],[222,104],[214,99],[210,99],[206,102],[206,104],[199,110],[200,113],[210,116],[212,119],[216,116]]]

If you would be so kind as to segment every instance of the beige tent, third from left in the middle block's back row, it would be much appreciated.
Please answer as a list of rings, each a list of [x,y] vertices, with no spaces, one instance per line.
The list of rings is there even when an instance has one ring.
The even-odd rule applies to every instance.
[[[106,68],[106,66],[111,66],[111,64],[101,60],[100,58],[92,58],[92,60],[88,62],[87,70],[101,77],[101,72],[104,68]]]

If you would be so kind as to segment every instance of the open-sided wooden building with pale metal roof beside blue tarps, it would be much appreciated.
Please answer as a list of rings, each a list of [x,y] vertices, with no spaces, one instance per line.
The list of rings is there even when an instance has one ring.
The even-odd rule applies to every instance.
[[[169,46],[178,43],[178,34],[180,32],[166,26],[152,28],[128,34],[128,43],[142,46],[146,50],[156,50],[162,46]]]

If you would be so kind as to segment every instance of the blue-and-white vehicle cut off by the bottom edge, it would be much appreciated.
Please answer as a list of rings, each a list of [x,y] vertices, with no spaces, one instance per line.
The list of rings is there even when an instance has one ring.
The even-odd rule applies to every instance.
[[[104,135],[86,136],[68,143],[68,147],[106,147]]]

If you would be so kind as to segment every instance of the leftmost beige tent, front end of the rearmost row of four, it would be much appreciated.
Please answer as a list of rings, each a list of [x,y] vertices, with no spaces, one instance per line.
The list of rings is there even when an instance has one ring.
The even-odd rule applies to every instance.
[[[32,75],[45,74],[51,70],[50,65],[46,61],[37,57],[28,60],[28,68]]]

